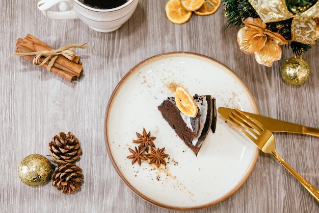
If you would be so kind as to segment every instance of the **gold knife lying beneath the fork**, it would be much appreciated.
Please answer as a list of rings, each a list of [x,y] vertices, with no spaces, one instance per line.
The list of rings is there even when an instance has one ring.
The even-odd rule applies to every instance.
[[[228,116],[234,109],[219,107],[218,112],[225,118],[228,119]],[[245,112],[249,114],[253,119],[256,119],[262,123],[267,129],[272,132],[288,132],[288,133],[299,133],[319,137],[319,129],[313,127],[302,126],[299,124],[289,123],[285,121],[280,121],[272,119],[270,117],[265,117],[259,114],[253,114],[250,112]]]

